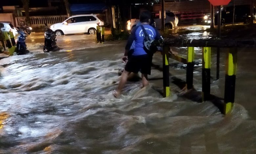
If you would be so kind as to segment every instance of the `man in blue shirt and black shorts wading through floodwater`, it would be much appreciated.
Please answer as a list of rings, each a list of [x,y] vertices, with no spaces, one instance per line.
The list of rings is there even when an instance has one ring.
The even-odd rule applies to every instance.
[[[151,37],[153,40],[160,40],[163,39],[160,35],[159,31],[152,26],[149,25],[150,23],[150,17],[151,14],[147,10],[143,10],[139,14],[139,21],[141,25],[144,27],[146,32],[148,33],[148,36]],[[142,86],[146,87],[148,86],[148,75],[151,74],[151,63],[152,63],[152,57],[153,55],[147,54],[147,52],[144,49],[144,35],[143,30],[141,26],[136,26],[132,29],[131,35],[128,39],[128,42],[125,46],[125,52],[124,56],[122,58],[123,63],[126,63],[124,71],[121,75],[120,82],[118,84],[117,90],[114,90],[113,95],[117,98],[122,91],[122,88],[124,87],[128,75],[133,73],[141,72],[141,78],[142,78]],[[174,53],[172,50],[170,50],[171,53]],[[128,58],[128,52],[131,54]]]

